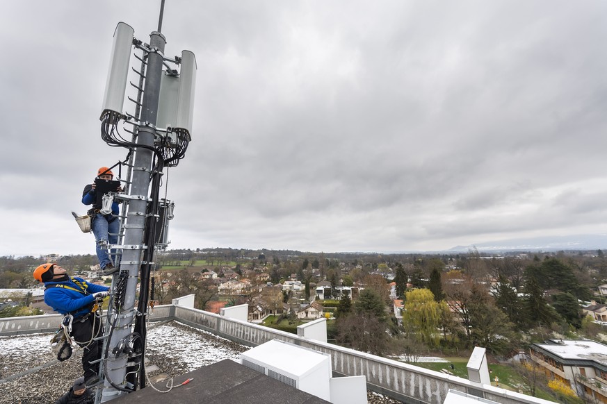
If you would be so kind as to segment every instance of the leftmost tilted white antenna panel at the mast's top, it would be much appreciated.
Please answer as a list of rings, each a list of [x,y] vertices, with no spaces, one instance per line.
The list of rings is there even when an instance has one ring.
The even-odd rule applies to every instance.
[[[116,26],[116,31],[114,31],[114,42],[112,45],[110,68],[108,70],[108,80],[106,81],[102,117],[107,110],[122,114],[134,33],[133,28],[124,22],[119,22],[118,26]]]

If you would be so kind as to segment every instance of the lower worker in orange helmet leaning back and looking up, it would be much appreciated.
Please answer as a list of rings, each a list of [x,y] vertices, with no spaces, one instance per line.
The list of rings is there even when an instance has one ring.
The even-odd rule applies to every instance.
[[[88,283],[75,276],[70,278],[64,268],[54,263],[40,265],[34,270],[33,277],[46,287],[44,303],[71,319],[70,336],[84,349],[82,368],[86,385],[94,384],[99,380],[99,362],[90,362],[102,357],[102,343],[95,338],[103,335],[102,318],[95,306],[108,296],[109,287]]]

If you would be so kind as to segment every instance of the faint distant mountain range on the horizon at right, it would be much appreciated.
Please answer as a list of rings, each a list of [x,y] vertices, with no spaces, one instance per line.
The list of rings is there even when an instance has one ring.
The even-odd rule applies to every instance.
[[[499,242],[471,244],[469,246],[455,246],[448,251],[466,252],[474,248],[479,252],[607,250],[607,234],[508,239]]]

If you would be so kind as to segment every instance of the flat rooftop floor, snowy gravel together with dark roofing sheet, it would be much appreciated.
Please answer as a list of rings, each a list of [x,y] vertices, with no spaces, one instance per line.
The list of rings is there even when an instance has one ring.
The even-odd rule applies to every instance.
[[[81,376],[81,349],[76,349],[69,360],[58,362],[49,344],[52,334],[0,337],[0,404],[54,403]],[[253,404],[325,403],[242,367],[238,358],[248,349],[248,346],[177,321],[152,323],[148,328],[145,355],[149,359],[146,366],[148,387],[114,402],[193,403],[196,401],[192,397],[204,396],[205,403],[213,404],[243,401]],[[166,394],[156,392],[154,387],[168,390],[167,381],[159,381],[166,375],[175,378],[173,385],[179,385],[187,378],[193,380]],[[149,388],[150,380],[154,383],[152,388]],[[263,392],[257,391],[258,386]],[[284,401],[281,394],[288,394],[289,401]],[[372,392],[368,397],[369,403],[373,404],[398,403]],[[254,401],[262,398],[264,401]]]

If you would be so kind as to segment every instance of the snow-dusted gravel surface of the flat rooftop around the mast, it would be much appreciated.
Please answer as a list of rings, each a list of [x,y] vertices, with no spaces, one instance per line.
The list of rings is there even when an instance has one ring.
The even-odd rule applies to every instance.
[[[0,404],[54,403],[81,376],[81,348],[65,362],[51,353],[52,334],[0,337]],[[238,362],[240,353],[249,348],[197,328],[170,321],[149,326],[146,357],[159,369],[149,371],[179,376],[223,359]],[[159,387],[163,388],[165,382]],[[368,392],[371,404],[400,403],[380,394]]]

